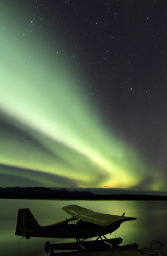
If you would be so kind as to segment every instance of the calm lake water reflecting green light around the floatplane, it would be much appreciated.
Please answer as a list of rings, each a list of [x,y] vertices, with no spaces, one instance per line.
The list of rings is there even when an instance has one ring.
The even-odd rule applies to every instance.
[[[150,247],[156,239],[166,244],[167,201],[54,201],[54,200],[19,200],[0,199],[0,255],[19,255],[19,236],[15,236],[19,208],[29,208],[40,225],[54,224],[68,218],[61,208],[77,204],[96,212],[136,217],[127,221],[120,228],[107,235],[108,238],[121,237],[123,244],[137,243],[140,247]],[[20,256],[46,256],[45,242],[62,243],[73,239],[33,238],[21,239]]]

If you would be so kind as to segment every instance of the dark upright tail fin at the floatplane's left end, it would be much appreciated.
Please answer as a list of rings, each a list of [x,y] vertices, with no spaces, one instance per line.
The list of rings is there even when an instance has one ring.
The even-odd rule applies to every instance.
[[[19,209],[15,235],[25,236],[25,234],[30,234],[32,231],[40,227],[41,226],[38,224],[37,220],[35,220],[28,208]]]

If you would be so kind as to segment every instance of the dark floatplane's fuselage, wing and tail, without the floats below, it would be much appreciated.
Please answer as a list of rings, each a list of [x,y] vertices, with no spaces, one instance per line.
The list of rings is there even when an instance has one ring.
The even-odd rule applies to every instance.
[[[19,209],[15,235],[30,237],[75,238],[77,241],[90,237],[104,236],[112,233],[124,221],[134,220],[133,217],[96,213],[78,205],[62,208],[71,218],[53,225],[40,226],[30,210]]]

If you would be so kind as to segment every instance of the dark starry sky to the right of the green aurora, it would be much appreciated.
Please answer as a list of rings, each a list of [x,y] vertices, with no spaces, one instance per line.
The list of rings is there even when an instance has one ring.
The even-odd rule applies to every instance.
[[[47,20],[41,26],[53,36],[58,31],[62,51],[69,47],[87,73],[108,125],[149,159],[165,157],[165,1],[38,1],[36,7]]]

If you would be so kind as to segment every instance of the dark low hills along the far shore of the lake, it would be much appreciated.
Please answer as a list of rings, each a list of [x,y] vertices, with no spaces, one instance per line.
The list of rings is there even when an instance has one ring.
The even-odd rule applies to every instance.
[[[0,198],[55,200],[167,200],[167,196],[144,194],[93,194],[89,191],[69,191],[66,188],[3,187]]]

